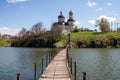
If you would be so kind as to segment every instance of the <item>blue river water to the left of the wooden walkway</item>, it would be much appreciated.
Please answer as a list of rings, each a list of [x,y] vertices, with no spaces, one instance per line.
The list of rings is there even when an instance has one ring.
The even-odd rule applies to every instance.
[[[16,80],[21,73],[21,80],[34,79],[34,63],[37,63],[37,78],[41,72],[41,59],[49,49],[0,47],[0,80]]]

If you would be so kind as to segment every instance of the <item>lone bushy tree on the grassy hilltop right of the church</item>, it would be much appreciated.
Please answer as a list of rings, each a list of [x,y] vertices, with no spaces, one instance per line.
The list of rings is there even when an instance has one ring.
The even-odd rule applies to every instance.
[[[107,19],[102,18],[101,20],[96,20],[96,23],[98,26],[100,26],[100,30],[102,32],[109,32],[110,31],[110,25]]]

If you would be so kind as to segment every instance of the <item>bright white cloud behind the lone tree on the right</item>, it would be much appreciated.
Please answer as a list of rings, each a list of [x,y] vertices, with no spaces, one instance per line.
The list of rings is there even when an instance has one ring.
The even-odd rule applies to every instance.
[[[108,17],[108,16],[105,16],[105,15],[101,15],[99,16],[96,20],[89,20],[88,22],[92,25],[96,25],[99,23],[99,21],[101,20],[101,18],[105,18],[107,19],[109,22],[115,22],[116,21],[116,18],[115,17]]]

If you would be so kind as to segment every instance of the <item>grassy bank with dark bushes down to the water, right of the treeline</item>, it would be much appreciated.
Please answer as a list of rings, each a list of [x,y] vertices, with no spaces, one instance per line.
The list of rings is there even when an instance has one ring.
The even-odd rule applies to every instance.
[[[72,32],[71,45],[83,48],[120,47],[120,32]],[[56,45],[66,45],[67,38],[62,38]]]

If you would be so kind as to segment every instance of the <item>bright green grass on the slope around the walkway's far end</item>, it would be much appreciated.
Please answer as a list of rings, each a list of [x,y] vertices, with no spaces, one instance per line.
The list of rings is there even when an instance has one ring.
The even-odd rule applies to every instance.
[[[71,42],[76,45],[77,42],[82,42],[85,45],[89,45],[91,41],[100,41],[103,43],[109,43],[111,39],[120,39],[120,32],[71,32]],[[66,45],[67,36],[63,37],[56,45]],[[97,42],[96,42],[97,43]]]

